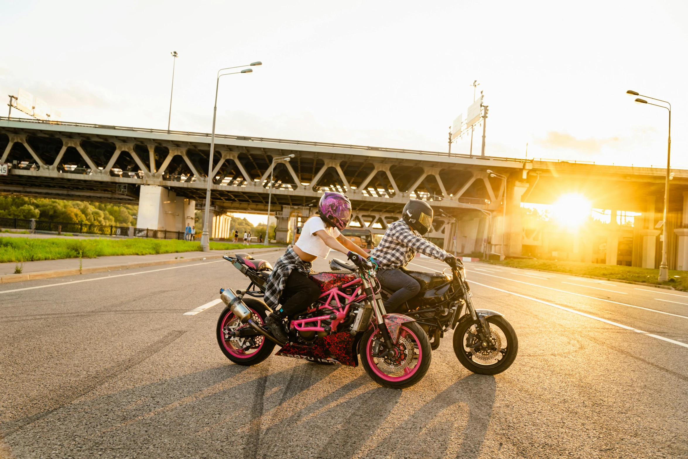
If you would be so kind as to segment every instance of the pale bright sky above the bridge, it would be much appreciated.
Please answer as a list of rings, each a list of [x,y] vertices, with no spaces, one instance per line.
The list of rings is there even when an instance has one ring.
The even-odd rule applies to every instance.
[[[486,155],[688,167],[688,2],[11,2],[0,94],[64,121],[447,151],[473,101]],[[9,40],[9,41],[8,41]],[[17,111],[13,111],[17,114]],[[480,151],[482,127],[473,152]],[[469,136],[455,153],[469,152]]]

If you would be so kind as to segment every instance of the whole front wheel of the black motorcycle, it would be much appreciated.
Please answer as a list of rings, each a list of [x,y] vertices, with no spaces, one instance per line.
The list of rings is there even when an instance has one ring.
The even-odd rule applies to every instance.
[[[466,321],[454,330],[454,354],[461,365],[473,373],[501,373],[516,359],[518,337],[504,317],[491,316],[485,320],[490,326],[492,342],[482,347],[478,336],[480,325]]]

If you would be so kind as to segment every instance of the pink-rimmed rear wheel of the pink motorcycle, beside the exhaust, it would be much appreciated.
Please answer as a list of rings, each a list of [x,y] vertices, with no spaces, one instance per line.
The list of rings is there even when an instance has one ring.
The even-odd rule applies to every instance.
[[[243,301],[251,310],[253,320],[259,323],[259,325],[263,325],[267,317],[265,303],[255,298],[244,298]],[[219,348],[224,356],[237,365],[257,365],[272,354],[272,350],[275,349],[275,343],[262,335],[251,337],[254,345],[249,345],[247,343],[248,339],[225,339],[225,329],[233,331],[244,327],[250,328],[249,325],[241,325],[239,319],[230,308],[225,307],[222,313],[219,314],[219,319],[217,319],[217,344],[219,344]]]

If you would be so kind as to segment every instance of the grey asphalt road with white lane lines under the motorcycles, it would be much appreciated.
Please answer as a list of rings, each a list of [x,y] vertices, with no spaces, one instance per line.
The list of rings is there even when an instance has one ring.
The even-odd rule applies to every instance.
[[[223,260],[2,286],[0,458],[688,457],[688,294],[467,267],[515,363],[471,374],[450,333],[403,391],[362,367],[230,363],[222,305],[184,314],[246,286]]]

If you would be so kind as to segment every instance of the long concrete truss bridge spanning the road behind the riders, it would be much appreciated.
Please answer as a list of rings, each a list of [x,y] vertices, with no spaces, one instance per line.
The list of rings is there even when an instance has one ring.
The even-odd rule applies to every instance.
[[[193,226],[195,209],[202,209],[209,150],[206,133],[0,118],[0,162],[11,164],[9,175],[0,177],[0,191],[138,204],[139,227],[178,231],[187,222]],[[288,154],[295,157],[278,163],[270,181],[272,158]],[[506,189],[505,181],[490,177],[488,170],[506,175]],[[277,239],[287,240],[290,224],[299,216],[308,217],[323,191],[346,193],[354,204],[352,226],[378,234],[399,217],[409,198],[416,198],[436,209],[428,237],[447,250],[471,253],[487,248],[510,256],[537,253],[601,261],[599,246],[604,245],[603,262],[626,264],[627,257],[619,257],[619,250],[627,250],[623,247],[629,227],[617,227],[615,219],[602,228],[564,237],[566,244],[548,241],[552,233],[558,239],[568,234],[557,228],[550,227],[549,233],[524,228],[522,200],[552,204],[560,195],[582,193],[594,208],[614,215],[617,211],[643,214],[630,227],[630,263],[651,266],[660,244],[654,223],[663,209],[664,174],[665,169],[657,167],[449,156],[438,151],[217,135],[211,204],[215,215],[263,213],[271,191]],[[688,204],[684,204],[688,171],[674,171],[671,186],[670,267],[688,269],[688,255],[680,253],[682,248],[688,250],[688,244],[682,244],[688,237]]]

